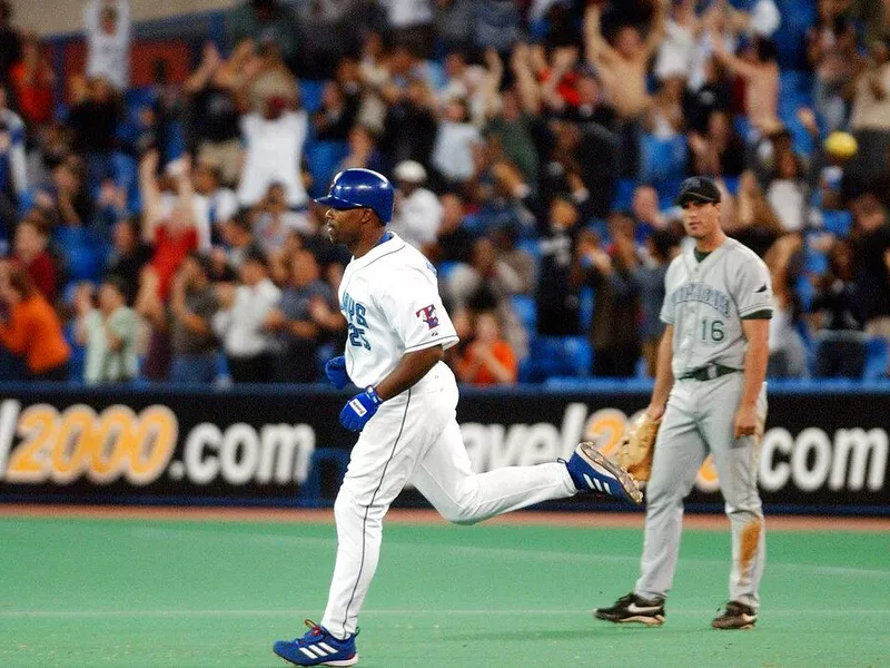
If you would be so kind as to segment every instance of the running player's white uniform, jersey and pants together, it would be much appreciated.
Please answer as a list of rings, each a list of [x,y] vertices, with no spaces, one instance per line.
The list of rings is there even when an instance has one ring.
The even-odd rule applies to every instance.
[[[346,371],[360,387],[383,380],[405,353],[457,343],[435,269],[395,234],[353,258],[339,297],[349,323]],[[575,493],[560,462],[474,473],[456,407],[457,383],[439,362],[383,402],[362,430],[334,504],[337,559],[322,625],[336,637],[357,631],[379,559],[383,518],[407,483],[445,518],[464,524]]]

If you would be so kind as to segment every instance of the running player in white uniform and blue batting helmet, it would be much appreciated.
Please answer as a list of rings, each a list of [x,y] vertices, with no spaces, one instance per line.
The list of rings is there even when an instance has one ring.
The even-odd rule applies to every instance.
[[[386,232],[393,187],[368,169],[338,174],[326,197],[328,234],[353,259],[339,288],[346,354],[327,364],[332,382],[364,390],[340,413],[360,431],[334,513],[337,560],[320,625],[274,650],[297,666],[353,666],[358,612],[377,567],[389,504],[411,481],[446,519],[472,524],[547,499],[591,491],[642,501],[627,473],[591,445],[571,459],[475,474],[455,419],[457,385],[442,362],[457,334],[429,262]]]

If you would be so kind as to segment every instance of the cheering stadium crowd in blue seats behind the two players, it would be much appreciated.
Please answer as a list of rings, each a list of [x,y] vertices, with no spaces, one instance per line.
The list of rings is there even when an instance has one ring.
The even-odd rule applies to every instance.
[[[465,383],[651,375],[689,175],[772,272],[770,376],[886,376],[890,1],[817,4],[250,0],[137,88],[128,0],[82,72],[0,2],[0,376],[318,380],[345,167],[397,185]]]

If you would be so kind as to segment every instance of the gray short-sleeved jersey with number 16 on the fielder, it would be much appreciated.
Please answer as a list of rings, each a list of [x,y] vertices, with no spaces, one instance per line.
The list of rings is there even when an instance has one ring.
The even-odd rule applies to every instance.
[[[730,238],[701,262],[690,248],[671,263],[664,287],[661,320],[674,327],[674,377],[708,364],[741,370],[748,350],[742,320],[772,313],[763,261]]]

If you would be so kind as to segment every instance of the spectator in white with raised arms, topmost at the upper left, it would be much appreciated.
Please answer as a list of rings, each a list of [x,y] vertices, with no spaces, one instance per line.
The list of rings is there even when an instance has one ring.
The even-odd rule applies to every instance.
[[[130,0],[90,0],[83,9],[87,76],[105,77],[118,90],[130,81]]]

